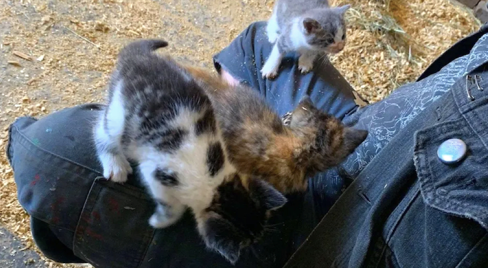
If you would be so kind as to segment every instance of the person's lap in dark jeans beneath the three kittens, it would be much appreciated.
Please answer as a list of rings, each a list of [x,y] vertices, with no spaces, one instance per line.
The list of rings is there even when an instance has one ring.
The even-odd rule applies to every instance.
[[[350,125],[368,129],[370,140],[366,140],[365,149],[361,149],[363,150],[361,153],[350,158],[356,157],[359,163],[368,162],[367,159],[378,152],[378,150],[370,150],[368,146],[377,148],[376,140],[387,142],[388,139],[382,137],[392,137],[407,122],[405,118],[414,116],[416,111],[421,109],[419,107],[425,107],[443,92],[439,88],[430,87],[429,92],[425,92],[422,98],[412,103],[406,99],[416,96],[418,88],[406,86],[398,89],[396,95],[358,111],[355,102],[355,98],[356,101],[359,100],[357,95],[330,63],[318,65],[313,73],[302,75],[297,70],[293,57],[285,59],[276,80],[264,80],[261,78],[260,67],[270,52],[270,45],[264,36],[264,26],[263,22],[257,22],[244,30],[215,57],[217,68],[222,67],[239,81],[259,90],[280,115],[290,111],[303,95],[308,94],[320,109],[344,119]],[[214,267],[226,267],[226,263],[219,262],[221,260],[217,258],[218,255],[207,257],[208,253],[205,253],[203,244],[198,243],[189,216],[170,229],[158,230],[154,233],[148,231],[145,225],[146,219],[152,212],[152,204],[147,200],[147,195],[140,190],[141,187],[136,179],[130,179],[129,184],[132,186],[113,186],[111,183],[96,180],[101,176],[101,167],[94,153],[91,126],[99,109],[100,106],[95,104],[82,105],[48,115],[39,121],[20,118],[13,124],[8,153],[19,186],[21,205],[33,217],[48,223],[51,229],[56,229],[54,231],[57,238],[66,246],[66,250],[74,249],[75,254],[85,260],[99,261],[93,259],[97,256],[97,250],[113,252],[120,249],[118,252],[122,252],[126,257],[115,254],[114,259],[142,258],[145,262],[142,267],[151,267],[151,261],[156,264],[159,262],[160,265],[168,259],[184,262],[189,256],[182,256],[182,254],[190,254],[190,258],[193,258],[190,263],[195,266],[201,266],[211,260]],[[381,113],[383,115],[378,115]],[[387,135],[378,131],[381,130],[382,125],[391,125],[386,128]],[[27,160],[32,162],[27,163]],[[262,247],[258,246],[257,251],[244,253],[243,258],[248,259],[247,263],[244,260],[244,263],[239,265],[266,266],[270,263],[284,262],[339,197],[341,189],[345,186],[344,177],[354,176],[354,169],[356,167],[359,167],[357,170],[360,169],[360,166],[356,165],[357,161],[349,161],[346,163],[346,173],[344,170],[333,170],[319,174],[310,180],[310,191],[305,196],[291,197],[290,204],[281,210],[280,215],[275,219],[277,223],[282,224],[274,228],[276,231],[266,237],[265,243]],[[96,182],[93,183],[94,181]],[[92,192],[95,191],[94,189],[97,190],[96,195]],[[117,194],[125,197],[120,199]],[[87,196],[92,203],[88,201],[85,203]],[[134,201],[132,205],[120,204],[125,202],[123,200],[139,199],[142,201]],[[87,207],[87,204],[91,204],[91,207]],[[103,206],[106,208],[104,209]],[[104,211],[106,215],[100,214],[97,209]],[[79,221],[82,211],[82,216],[84,215],[85,218]],[[122,214],[114,216],[114,211],[120,211]],[[134,217],[139,219],[135,220]],[[83,221],[87,223],[83,224]],[[96,221],[98,223],[95,224]],[[118,222],[119,226],[117,226]],[[100,238],[97,230],[87,230],[86,227],[97,228],[100,232],[110,228],[115,230],[106,232],[107,237],[103,237],[102,240],[105,242],[102,243],[97,240]],[[118,227],[121,229],[117,230]],[[117,238],[118,232],[122,230],[129,232],[139,230],[143,235],[139,235],[139,238],[131,235]],[[172,242],[157,242],[157,246],[152,245],[147,250],[147,254],[140,253],[142,249],[132,250],[137,256],[131,256],[133,252],[130,253],[129,246],[133,246],[134,243],[145,245],[148,241]],[[188,244],[192,245],[188,246]],[[95,249],[87,249],[93,245],[96,245]],[[273,249],[274,252],[269,253],[269,249]],[[72,256],[72,259],[66,260],[76,261],[76,259]],[[62,258],[59,260],[64,261]]]

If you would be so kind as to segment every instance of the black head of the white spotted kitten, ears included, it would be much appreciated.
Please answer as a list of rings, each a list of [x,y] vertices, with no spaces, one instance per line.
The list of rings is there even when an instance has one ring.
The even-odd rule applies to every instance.
[[[263,181],[252,179],[248,191],[238,174],[230,176],[217,188],[212,203],[205,209],[219,216],[205,222],[204,239],[210,249],[235,263],[242,248],[262,237],[267,211],[283,206],[286,198]]]

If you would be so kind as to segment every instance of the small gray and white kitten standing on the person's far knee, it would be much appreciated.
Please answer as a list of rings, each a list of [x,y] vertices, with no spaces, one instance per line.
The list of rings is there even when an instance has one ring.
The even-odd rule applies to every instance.
[[[342,51],[346,42],[344,14],[349,7],[329,7],[327,0],[277,0],[266,28],[274,46],[261,69],[262,76],[276,77],[288,52],[300,54],[298,68],[305,74],[318,56]]]

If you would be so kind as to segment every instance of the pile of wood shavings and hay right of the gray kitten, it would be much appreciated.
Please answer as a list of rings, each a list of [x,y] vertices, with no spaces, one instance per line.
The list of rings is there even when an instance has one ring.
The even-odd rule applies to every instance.
[[[369,101],[414,81],[450,45],[481,26],[467,8],[447,0],[334,1],[344,3],[352,4],[348,43],[332,62]]]

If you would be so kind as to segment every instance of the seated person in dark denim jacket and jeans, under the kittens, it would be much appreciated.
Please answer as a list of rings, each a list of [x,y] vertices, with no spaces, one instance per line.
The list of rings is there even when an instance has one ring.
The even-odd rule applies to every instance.
[[[486,30],[440,57],[420,81],[360,107],[330,64],[302,76],[289,55],[277,80],[261,79],[270,52],[264,26],[252,24],[216,55],[217,70],[259,90],[280,115],[307,93],[370,135],[343,165],[311,178],[307,192],[288,196],[272,231],[244,250],[236,267],[282,267],[295,251],[287,267],[486,267],[487,119],[478,116],[487,109],[486,92],[473,89],[475,100],[463,99],[465,72],[479,73],[488,87],[488,48],[468,42]],[[172,227],[150,228],[154,205],[136,177],[123,186],[101,179],[91,138],[100,109],[86,104],[40,120],[23,117],[10,128],[19,201],[42,252],[102,268],[233,267],[205,249],[189,213]],[[447,137],[470,149],[455,167],[435,158]]]

